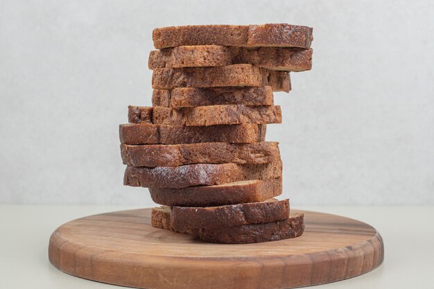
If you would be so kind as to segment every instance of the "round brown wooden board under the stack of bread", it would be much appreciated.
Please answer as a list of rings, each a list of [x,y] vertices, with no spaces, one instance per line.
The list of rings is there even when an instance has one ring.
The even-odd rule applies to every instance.
[[[161,289],[295,288],[355,277],[383,261],[383,240],[370,225],[302,212],[303,236],[245,245],[202,243],[156,229],[150,209],[103,213],[56,229],[49,259],[77,277]]]

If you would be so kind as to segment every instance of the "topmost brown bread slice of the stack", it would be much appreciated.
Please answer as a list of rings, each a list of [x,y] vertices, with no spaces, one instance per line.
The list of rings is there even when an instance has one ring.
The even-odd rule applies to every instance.
[[[312,40],[312,28],[290,24],[192,25],[153,30],[156,49],[185,45],[309,48]]]

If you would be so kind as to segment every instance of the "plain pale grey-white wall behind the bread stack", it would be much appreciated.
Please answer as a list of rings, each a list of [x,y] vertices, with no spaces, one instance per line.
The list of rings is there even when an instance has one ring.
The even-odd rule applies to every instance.
[[[431,0],[0,1],[0,202],[152,205],[122,185],[118,125],[150,105],[153,28],[273,22],[315,37],[268,126],[284,197],[434,204]]]

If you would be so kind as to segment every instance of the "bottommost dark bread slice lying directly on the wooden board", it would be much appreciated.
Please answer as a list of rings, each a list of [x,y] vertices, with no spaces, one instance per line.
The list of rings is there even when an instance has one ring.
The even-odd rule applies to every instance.
[[[171,226],[171,209],[155,207],[151,214],[151,225],[159,229],[173,230]],[[249,224],[218,229],[188,229],[179,233],[190,234],[209,243],[247,244],[273,240],[284,240],[302,236],[304,232],[304,214],[293,213],[286,220]]]

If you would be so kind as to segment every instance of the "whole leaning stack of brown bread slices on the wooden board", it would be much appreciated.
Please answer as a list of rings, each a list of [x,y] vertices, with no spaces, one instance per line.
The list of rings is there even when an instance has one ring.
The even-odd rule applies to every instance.
[[[152,225],[211,243],[300,236],[302,214],[282,193],[273,91],[311,69],[312,28],[289,24],[157,28],[149,68],[153,107],[128,107],[120,125],[124,184],[162,207]]]

